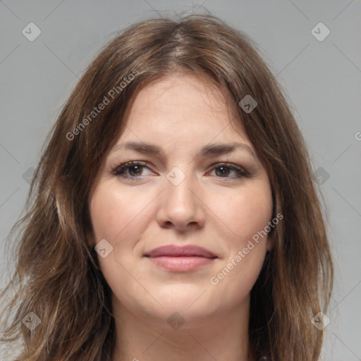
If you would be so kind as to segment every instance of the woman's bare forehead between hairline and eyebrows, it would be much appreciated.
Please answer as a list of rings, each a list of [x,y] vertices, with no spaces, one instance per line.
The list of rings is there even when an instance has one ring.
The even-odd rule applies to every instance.
[[[188,144],[247,139],[238,112],[214,80],[188,74],[161,78],[136,95],[121,139],[154,137]],[[200,139],[200,136],[202,139]]]

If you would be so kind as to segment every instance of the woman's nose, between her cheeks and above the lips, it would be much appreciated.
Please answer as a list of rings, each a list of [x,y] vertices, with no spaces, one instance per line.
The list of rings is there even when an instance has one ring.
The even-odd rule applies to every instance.
[[[157,221],[162,228],[185,232],[202,228],[205,221],[205,204],[202,202],[197,180],[188,174],[181,183],[164,180],[165,190],[159,197]]]

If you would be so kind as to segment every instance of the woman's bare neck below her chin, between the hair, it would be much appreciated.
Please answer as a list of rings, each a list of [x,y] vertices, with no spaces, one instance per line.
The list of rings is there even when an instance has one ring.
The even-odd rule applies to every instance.
[[[112,361],[250,361],[249,298],[233,310],[207,317],[196,319],[188,310],[179,312],[185,322],[178,329],[159,317],[130,313],[114,297],[113,302],[116,345]]]

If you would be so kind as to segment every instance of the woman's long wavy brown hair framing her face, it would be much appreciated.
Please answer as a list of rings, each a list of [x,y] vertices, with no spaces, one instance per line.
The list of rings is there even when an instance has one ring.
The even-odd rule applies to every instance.
[[[16,267],[2,293],[1,341],[20,341],[13,360],[111,360],[111,290],[87,242],[90,188],[137,92],[175,71],[211,77],[225,92],[269,175],[274,215],[284,216],[251,291],[252,360],[319,359],[323,331],[311,319],[329,307],[334,266],[307,145],[257,44],[219,18],[191,14],[126,28],[63,106],[11,231]],[[238,106],[246,95],[257,101],[251,112]]]

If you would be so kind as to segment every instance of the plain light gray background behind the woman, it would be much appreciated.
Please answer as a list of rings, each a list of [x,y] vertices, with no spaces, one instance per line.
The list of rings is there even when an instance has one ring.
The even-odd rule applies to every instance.
[[[314,170],[323,174],[337,262],[323,360],[361,360],[360,0],[0,1],[1,264],[10,258],[6,239],[31,167],[87,64],[126,25],[174,11],[209,11],[247,32],[286,88]],[[30,22],[41,30],[33,42],[22,34]],[[311,32],[319,22],[331,31],[323,41]],[[3,266],[0,286],[8,274]]]

